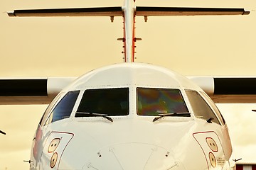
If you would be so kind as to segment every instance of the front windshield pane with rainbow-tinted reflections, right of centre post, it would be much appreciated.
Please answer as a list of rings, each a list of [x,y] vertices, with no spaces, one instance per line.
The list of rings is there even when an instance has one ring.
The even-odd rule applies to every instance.
[[[188,113],[178,89],[137,88],[137,114]]]

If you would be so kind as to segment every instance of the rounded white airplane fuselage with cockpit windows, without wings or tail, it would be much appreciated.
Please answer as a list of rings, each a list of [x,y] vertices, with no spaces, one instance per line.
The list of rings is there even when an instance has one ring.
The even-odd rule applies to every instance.
[[[115,111],[117,106],[111,104],[106,108],[110,111],[100,110],[99,101],[99,106],[93,108],[99,110],[93,113],[96,110],[90,107],[97,102],[93,93],[99,89],[108,91],[100,96],[107,98],[105,103],[115,101],[115,95],[124,96],[118,105],[121,110]],[[196,101],[198,96],[201,101]],[[153,101],[154,97],[159,104]],[[168,106],[169,101],[176,106]],[[201,105],[211,113],[207,109],[199,111]],[[67,110],[65,107],[70,110],[68,115],[62,112]],[[174,109],[174,113],[168,109]],[[231,152],[225,120],[203,90],[169,69],[122,63],[95,69],[60,92],[38,125],[30,166],[31,169],[230,169]]]

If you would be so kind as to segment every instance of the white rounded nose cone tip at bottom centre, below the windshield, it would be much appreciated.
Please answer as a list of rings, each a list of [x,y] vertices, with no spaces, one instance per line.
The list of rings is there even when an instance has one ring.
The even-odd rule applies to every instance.
[[[105,147],[95,152],[83,169],[183,169],[171,152],[144,143],[125,143]]]

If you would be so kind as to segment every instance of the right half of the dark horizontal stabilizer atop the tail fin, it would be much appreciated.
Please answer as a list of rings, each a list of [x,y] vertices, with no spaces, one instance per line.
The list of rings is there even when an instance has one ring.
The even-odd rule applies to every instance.
[[[183,8],[137,6],[137,16],[207,16],[207,15],[248,15],[243,8]]]

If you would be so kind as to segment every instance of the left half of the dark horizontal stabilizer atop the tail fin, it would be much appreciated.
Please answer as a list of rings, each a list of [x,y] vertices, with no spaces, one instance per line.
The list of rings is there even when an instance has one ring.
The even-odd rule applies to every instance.
[[[9,16],[122,16],[122,7],[24,9]]]

